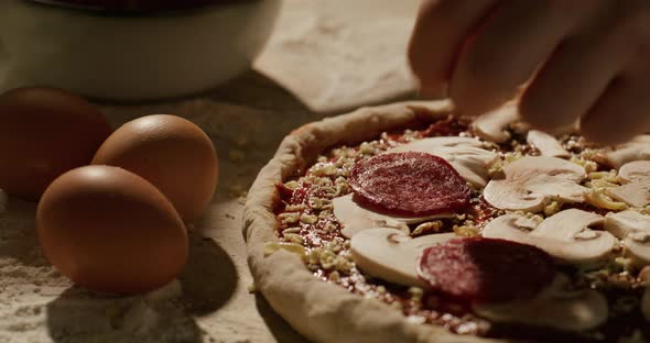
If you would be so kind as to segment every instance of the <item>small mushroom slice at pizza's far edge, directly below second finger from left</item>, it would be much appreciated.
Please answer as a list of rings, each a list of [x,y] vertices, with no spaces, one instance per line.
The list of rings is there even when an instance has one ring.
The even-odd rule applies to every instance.
[[[517,103],[511,102],[478,117],[472,124],[472,130],[481,140],[503,143],[510,139],[506,129],[518,119]]]

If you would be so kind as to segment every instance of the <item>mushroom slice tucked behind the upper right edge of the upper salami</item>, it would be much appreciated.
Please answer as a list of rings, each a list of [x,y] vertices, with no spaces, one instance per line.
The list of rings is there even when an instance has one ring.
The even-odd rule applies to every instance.
[[[415,141],[387,153],[421,152],[447,161],[467,182],[483,188],[488,180],[488,169],[499,159],[495,152],[484,148],[480,141],[470,137],[431,137]]]

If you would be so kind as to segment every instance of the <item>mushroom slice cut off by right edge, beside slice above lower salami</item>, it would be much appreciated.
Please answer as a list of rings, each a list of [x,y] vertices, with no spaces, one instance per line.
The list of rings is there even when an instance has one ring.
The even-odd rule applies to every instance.
[[[622,240],[625,254],[633,265],[650,265],[650,215],[633,210],[610,212],[605,217],[605,230]]]

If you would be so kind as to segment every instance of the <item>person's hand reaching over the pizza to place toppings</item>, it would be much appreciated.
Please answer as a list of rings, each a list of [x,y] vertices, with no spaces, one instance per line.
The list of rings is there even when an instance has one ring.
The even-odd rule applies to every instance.
[[[543,130],[579,120],[605,144],[650,130],[647,0],[423,0],[409,58],[462,114],[521,89],[523,120]]]

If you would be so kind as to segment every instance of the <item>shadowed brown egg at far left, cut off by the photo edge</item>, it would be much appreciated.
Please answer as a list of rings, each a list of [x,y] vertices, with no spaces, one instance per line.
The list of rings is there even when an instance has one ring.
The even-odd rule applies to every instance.
[[[90,163],[110,135],[99,110],[69,92],[19,88],[0,96],[0,188],[36,200],[63,173]]]

